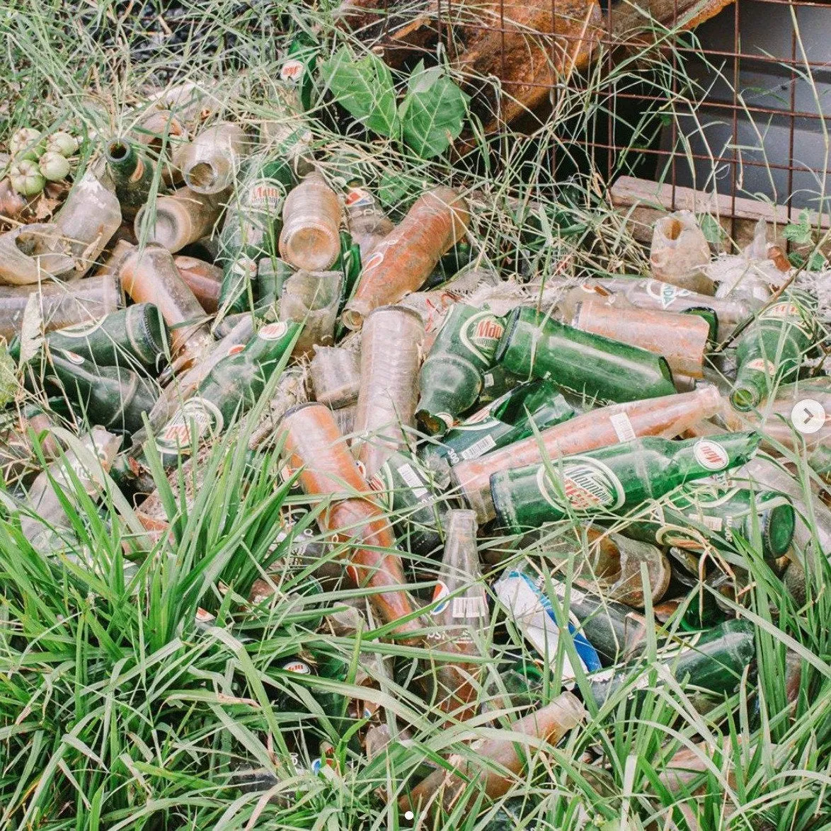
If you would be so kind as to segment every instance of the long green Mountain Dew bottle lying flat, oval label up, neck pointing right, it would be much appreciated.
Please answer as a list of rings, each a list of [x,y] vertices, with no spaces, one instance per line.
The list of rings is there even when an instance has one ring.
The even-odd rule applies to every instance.
[[[760,440],[755,432],[686,441],[648,436],[500,471],[490,478],[491,495],[501,524],[514,533],[570,516],[619,516],[691,479],[744,465]]]

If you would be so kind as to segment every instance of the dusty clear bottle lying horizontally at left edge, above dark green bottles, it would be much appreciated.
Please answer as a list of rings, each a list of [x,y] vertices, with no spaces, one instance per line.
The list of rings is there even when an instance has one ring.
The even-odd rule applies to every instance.
[[[44,280],[38,286],[0,286],[0,337],[7,342],[20,334],[23,312],[32,294],[44,332],[95,322],[122,305],[119,281],[113,275],[73,283]]]

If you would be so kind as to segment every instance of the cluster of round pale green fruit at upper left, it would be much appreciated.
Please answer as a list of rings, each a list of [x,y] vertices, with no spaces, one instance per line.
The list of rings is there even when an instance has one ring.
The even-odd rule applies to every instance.
[[[8,141],[9,181],[18,194],[37,196],[47,182],[60,182],[71,172],[69,158],[78,141],[69,133],[42,135],[32,127],[15,130]]]

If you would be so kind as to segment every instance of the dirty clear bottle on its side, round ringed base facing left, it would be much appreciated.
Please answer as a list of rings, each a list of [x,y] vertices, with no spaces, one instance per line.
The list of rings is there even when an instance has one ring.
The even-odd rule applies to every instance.
[[[136,238],[146,239],[148,243],[156,243],[175,253],[211,234],[222,209],[222,194],[214,197],[190,188],[179,188],[170,196],[156,198],[155,214],[152,221],[148,219],[146,234],[142,228],[148,210],[146,204],[135,214],[133,229]]]

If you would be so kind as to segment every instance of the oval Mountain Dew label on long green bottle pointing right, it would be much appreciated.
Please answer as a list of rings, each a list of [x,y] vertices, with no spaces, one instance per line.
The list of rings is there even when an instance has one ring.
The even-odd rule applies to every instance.
[[[620,508],[626,500],[626,493],[614,471],[601,461],[590,459],[588,456],[571,458],[572,461],[563,464],[559,469],[554,469],[562,488],[562,496],[555,489],[545,465],[539,466],[537,485],[543,499],[563,513],[568,513],[569,505],[578,514]],[[566,504],[563,504],[563,496]]]

